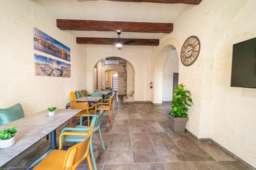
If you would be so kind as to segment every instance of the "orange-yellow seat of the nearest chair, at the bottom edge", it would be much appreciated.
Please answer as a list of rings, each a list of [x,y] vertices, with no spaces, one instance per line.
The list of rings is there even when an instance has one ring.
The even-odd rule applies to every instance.
[[[67,151],[53,150],[41,162],[39,162],[33,169],[35,170],[58,170],[63,169],[63,162],[65,160]]]

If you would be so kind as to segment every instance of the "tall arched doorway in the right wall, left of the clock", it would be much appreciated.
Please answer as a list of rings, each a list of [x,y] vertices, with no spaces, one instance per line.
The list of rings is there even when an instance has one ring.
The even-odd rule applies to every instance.
[[[177,70],[179,68],[177,47],[179,49],[181,47],[177,40],[169,38],[160,45],[159,51],[155,57],[153,75],[154,92],[152,102],[156,105],[162,105],[165,100],[166,102],[172,100],[173,77],[174,73],[178,73]],[[169,67],[174,67],[174,69],[169,69]],[[164,74],[167,74],[167,76]]]

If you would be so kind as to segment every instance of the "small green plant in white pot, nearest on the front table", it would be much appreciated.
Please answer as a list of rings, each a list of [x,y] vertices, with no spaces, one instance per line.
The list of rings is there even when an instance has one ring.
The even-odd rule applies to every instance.
[[[11,147],[15,143],[16,127],[0,130],[0,148]]]

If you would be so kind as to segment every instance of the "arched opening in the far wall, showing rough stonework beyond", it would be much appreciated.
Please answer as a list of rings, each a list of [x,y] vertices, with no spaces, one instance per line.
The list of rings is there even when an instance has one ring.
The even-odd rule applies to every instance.
[[[94,91],[111,87],[117,90],[124,102],[134,102],[134,68],[120,57],[106,57],[99,60],[93,71]]]

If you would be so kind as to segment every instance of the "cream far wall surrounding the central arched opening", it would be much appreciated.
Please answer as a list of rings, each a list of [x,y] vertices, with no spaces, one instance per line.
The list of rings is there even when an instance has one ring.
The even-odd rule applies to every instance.
[[[93,90],[93,67],[99,60],[116,56],[129,61],[134,67],[135,101],[150,101],[152,47],[123,46],[117,50],[115,45],[84,45],[87,47],[87,87]]]

